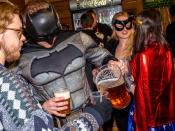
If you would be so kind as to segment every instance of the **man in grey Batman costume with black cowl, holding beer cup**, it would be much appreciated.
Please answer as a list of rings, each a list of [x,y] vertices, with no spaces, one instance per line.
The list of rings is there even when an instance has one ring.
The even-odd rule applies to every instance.
[[[15,70],[35,87],[37,99],[43,108],[55,116],[61,115],[53,92],[59,88],[70,89],[71,114],[57,120],[57,124],[62,126],[78,117],[89,102],[91,90],[85,75],[86,60],[96,66],[122,64],[114,61],[115,58],[107,50],[99,48],[85,33],[59,30],[58,19],[51,5],[47,8],[37,6],[35,11],[27,8],[23,16],[28,42],[24,44]],[[100,110],[103,112],[104,109]],[[105,115],[106,121],[109,118]]]

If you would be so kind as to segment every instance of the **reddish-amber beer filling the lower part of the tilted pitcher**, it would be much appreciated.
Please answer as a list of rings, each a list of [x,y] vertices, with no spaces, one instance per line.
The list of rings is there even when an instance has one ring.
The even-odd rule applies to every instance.
[[[116,109],[124,109],[131,102],[131,96],[126,90],[125,84],[117,87],[107,88],[109,92],[108,98],[110,99],[112,105]]]

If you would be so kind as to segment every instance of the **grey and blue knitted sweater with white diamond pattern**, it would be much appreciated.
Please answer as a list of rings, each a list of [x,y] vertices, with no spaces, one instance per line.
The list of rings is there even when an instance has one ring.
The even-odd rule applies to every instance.
[[[99,113],[87,108],[80,118],[68,123],[64,129],[53,128],[52,116],[35,99],[32,86],[0,65],[1,131],[95,131],[102,123]]]

